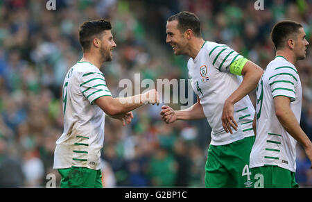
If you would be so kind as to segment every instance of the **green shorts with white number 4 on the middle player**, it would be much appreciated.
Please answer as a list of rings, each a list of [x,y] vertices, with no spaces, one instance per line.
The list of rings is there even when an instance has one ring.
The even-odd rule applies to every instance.
[[[205,167],[207,188],[252,188],[249,158],[254,136],[208,149]]]

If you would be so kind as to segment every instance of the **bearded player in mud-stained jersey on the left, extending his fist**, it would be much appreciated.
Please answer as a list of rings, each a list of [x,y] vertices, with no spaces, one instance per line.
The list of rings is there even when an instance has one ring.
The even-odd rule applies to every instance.
[[[103,73],[103,62],[112,60],[116,47],[112,26],[105,20],[80,26],[83,58],[69,69],[63,85],[64,131],[56,142],[54,169],[62,176],[60,187],[103,187],[100,156],[105,114],[129,124],[132,110],[144,103],[159,103],[158,92],[149,90],[114,98]]]

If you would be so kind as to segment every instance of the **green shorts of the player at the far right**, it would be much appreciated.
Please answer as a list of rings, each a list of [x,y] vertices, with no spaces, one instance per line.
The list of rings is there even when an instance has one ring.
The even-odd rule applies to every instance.
[[[298,188],[295,173],[275,165],[250,169],[254,188]]]

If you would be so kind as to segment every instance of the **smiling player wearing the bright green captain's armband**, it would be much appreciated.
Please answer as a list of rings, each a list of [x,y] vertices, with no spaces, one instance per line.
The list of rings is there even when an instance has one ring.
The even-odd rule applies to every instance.
[[[162,119],[173,123],[207,118],[212,131],[205,186],[251,187],[254,106],[248,93],[257,87],[263,70],[227,45],[203,40],[200,21],[192,12],[169,17],[166,34],[175,55],[191,57],[187,67],[198,101],[187,110],[162,106]]]

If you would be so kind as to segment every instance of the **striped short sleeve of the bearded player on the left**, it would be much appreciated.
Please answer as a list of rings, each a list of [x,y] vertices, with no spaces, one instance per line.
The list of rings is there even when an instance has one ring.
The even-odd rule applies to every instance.
[[[87,72],[80,79],[80,90],[91,104],[101,96],[112,96],[106,86],[105,77],[102,73]]]

